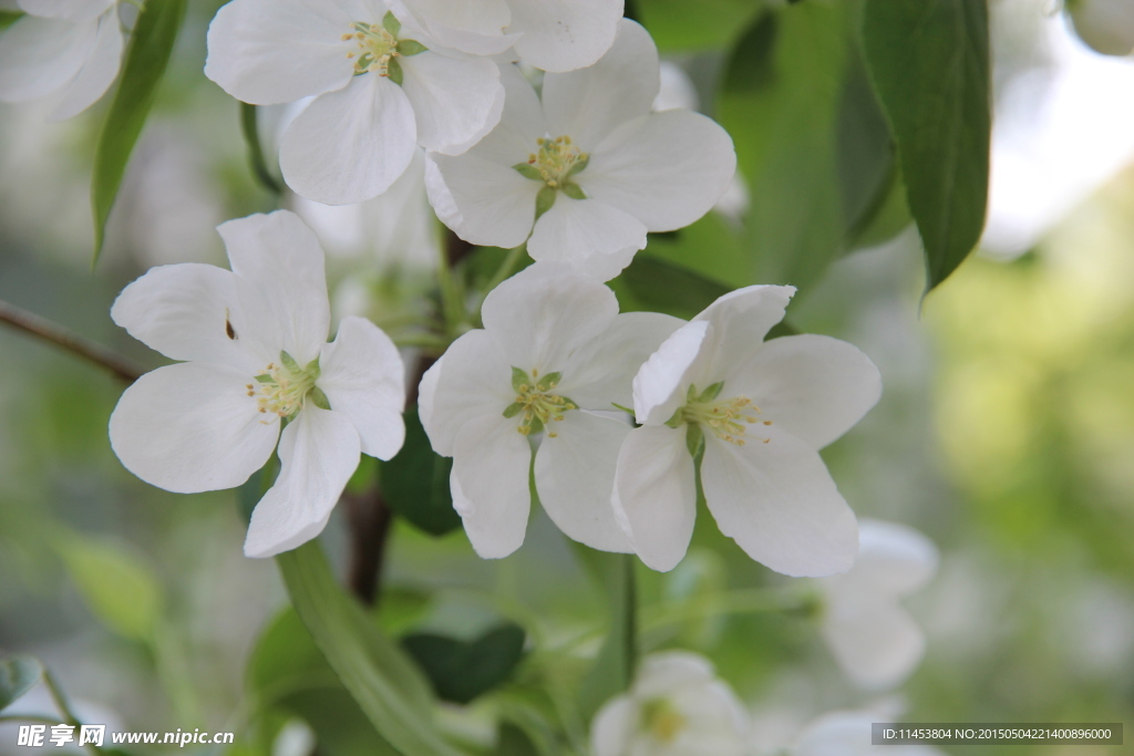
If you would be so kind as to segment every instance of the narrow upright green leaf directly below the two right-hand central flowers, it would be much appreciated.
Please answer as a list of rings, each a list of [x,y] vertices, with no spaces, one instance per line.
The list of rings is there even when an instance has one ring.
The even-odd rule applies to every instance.
[[[606,591],[610,630],[579,690],[579,712],[590,721],[599,708],[623,693],[637,664],[637,596],[633,554],[611,554],[573,544],[575,554]]]

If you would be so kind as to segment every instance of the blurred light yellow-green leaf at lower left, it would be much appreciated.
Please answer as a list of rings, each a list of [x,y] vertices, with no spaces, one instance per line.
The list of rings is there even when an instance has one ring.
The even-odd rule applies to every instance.
[[[75,587],[107,628],[150,642],[161,615],[161,586],[153,570],[122,544],[70,536],[59,544]]]

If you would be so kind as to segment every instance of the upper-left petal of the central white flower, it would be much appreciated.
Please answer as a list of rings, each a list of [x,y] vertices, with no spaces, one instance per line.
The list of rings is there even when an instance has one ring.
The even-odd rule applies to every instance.
[[[433,451],[442,457],[455,456],[457,435],[465,426],[502,417],[516,400],[508,360],[484,330],[454,341],[430,374],[432,391],[422,380],[421,419]]]

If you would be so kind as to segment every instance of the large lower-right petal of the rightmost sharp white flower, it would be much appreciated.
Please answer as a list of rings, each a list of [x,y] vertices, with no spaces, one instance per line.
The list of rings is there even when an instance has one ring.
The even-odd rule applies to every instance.
[[[721,533],[784,575],[850,569],[858,526],[819,452],[775,425],[752,427],[744,447],[705,432],[701,485]]]

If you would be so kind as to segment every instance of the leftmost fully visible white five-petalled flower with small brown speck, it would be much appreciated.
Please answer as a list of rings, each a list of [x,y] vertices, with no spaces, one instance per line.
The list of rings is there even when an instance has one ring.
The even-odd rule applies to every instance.
[[[115,301],[116,323],[185,362],[126,390],[110,443],[143,481],[196,493],[240,485],[279,440],[282,468],[244,545],[271,557],[319,535],[359,451],[389,459],[401,448],[404,368],[393,342],[359,317],[327,343],[323,252],[296,215],[252,215],[218,231],[231,272],[154,267]]]

